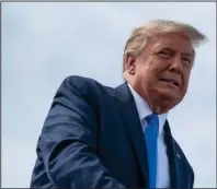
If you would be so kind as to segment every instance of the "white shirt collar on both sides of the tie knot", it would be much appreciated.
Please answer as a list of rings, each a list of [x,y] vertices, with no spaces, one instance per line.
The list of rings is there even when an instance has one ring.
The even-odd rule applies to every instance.
[[[136,104],[136,108],[139,115],[139,119],[142,122],[142,120],[151,115],[153,111],[150,109],[148,103],[130,86],[129,83],[127,83],[129,86],[129,90],[133,94],[135,104]],[[161,135],[163,133],[163,126],[165,123],[165,119],[167,119],[168,113],[162,114],[162,115],[158,115],[159,118],[159,135]]]

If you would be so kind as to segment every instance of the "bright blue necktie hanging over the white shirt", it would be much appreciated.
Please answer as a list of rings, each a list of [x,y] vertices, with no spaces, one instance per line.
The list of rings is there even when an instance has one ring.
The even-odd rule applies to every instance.
[[[146,117],[148,122],[145,129],[145,140],[148,154],[148,165],[149,165],[149,187],[156,188],[157,181],[157,160],[158,160],[158,128],[159,119],[158,116],[152,114]]]

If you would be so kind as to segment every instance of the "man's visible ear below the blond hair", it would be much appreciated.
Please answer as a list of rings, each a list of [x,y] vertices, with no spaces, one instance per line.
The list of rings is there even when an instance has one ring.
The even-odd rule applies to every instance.
[[[130,54],[127,54],[124,58],[124,63],[126,72],[134,75],[136,72],[136,58]]]

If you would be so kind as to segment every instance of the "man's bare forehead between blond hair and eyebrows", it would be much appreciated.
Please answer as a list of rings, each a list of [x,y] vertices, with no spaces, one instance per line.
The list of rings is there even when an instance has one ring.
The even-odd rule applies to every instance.
[[[153,37],[147,44],[152,50],[170,48],[182,54],[194,55],[194,48],[190,39],[183,34],[169,33]]]

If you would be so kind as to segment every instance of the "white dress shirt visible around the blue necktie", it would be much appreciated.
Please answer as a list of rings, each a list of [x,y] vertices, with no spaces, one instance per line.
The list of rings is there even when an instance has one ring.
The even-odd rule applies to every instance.
[[[134,96],[136,108],[140,118],[142,130],[147,126],[146,117],[152,114],[148,103],[128,84]],[[158,135],[158,170],[157,170],[157,188],[170,187],[169,162],[167,155],[167,146],[163,140],[163,126],[167,119],[167,114],[158,115],[159,118],[159,135]]]

